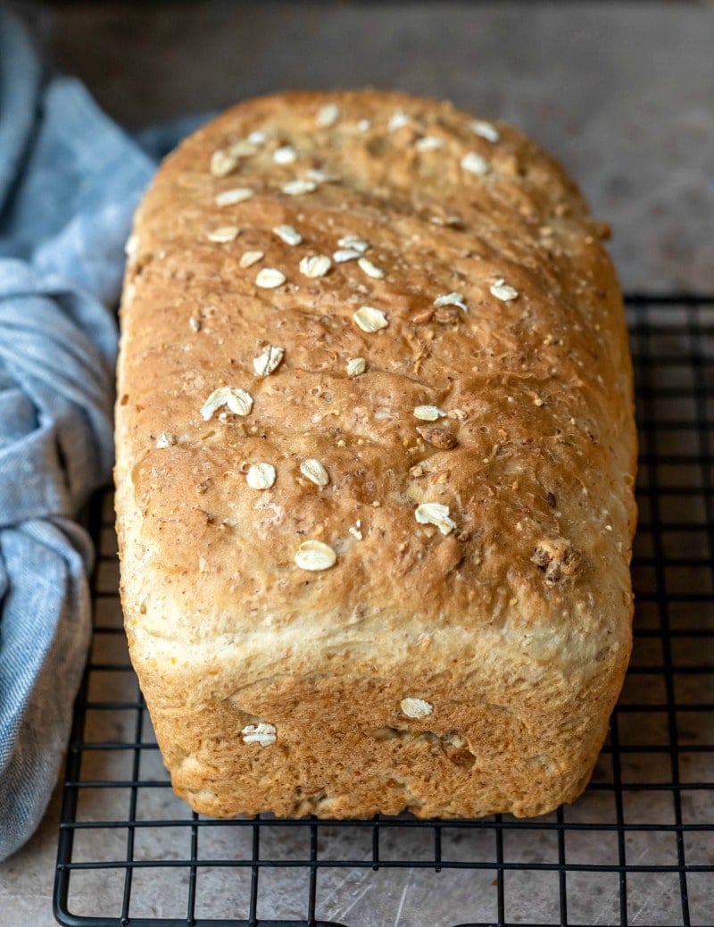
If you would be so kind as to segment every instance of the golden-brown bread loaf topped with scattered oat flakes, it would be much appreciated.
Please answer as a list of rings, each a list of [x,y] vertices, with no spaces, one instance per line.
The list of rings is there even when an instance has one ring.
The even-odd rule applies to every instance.
[[[126,629],[210,815],[534,815],[631,648],[631,362],[575,186],[515,129],[251,100],[167,159],[124,290]]]

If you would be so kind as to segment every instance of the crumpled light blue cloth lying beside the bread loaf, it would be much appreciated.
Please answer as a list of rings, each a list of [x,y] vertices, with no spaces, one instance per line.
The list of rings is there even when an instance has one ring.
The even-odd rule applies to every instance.
[[[110,476],[123,246],[176,140],[121,132],[0,10],[0,859],[67,743],[94,555],[72,519]]]

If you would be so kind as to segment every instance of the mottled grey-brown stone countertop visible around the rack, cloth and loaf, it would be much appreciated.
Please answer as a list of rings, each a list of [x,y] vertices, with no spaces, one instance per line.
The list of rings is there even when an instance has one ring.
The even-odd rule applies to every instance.
[[[279,88],[368,83],[518,123],[612,224],[626,289],[714,292],[712,9],[212,0],[60,3],[56,16],[61,66],[131,128]],[[58,816],[57,793],[0,865],[8,927],[55,922]]]

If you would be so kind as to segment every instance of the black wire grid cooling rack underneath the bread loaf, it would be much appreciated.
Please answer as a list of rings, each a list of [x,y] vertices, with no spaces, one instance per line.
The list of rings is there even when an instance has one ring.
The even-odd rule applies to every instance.
[[[94,927],[714,922],[714,297],[627,300],[634,651],[593,781],[543,818],[219,821],[172,793],[126,653],[111,500],[55,916]]]

